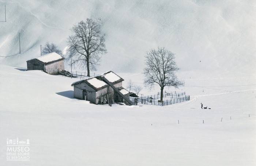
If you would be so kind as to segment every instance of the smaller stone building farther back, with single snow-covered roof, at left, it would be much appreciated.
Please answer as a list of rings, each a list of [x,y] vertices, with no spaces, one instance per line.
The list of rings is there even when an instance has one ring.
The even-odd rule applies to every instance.
[[[27,70],[43,70],[48,74],[58,74],[64,70],[64,57],[49,53],[27,61]]]

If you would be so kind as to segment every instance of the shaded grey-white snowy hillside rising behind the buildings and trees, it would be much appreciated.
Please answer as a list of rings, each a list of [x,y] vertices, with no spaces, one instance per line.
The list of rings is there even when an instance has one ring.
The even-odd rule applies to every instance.
[[[0,58],[26,66],[40,45],[67,46],[70,28],[88,17],[100,18],[108,54],[99,70],[138,73],[146,51],[164,46],[176,53],[182,70],[227,69],[249,72],[256,66],[255,1],[169,0],[0,0]],[[116,59],[118,63],[112,63]],[[202,63],[199,63],[199,61]],[[132,67],[131,67],[132,66]]]

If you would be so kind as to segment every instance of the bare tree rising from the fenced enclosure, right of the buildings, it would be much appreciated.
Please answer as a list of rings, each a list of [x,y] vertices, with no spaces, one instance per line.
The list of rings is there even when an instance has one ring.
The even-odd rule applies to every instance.
[[[158,84],[161,88],[161,99],[163,100],[163,89],[165,86],[174,86],[178,88],[184,85],[183,81],[178,80],[176,72],[179,70],[174,61],[174,54],[164,47],[158,47],[157,50],[150,50],[145,56],[144,84],[152,86]]]

